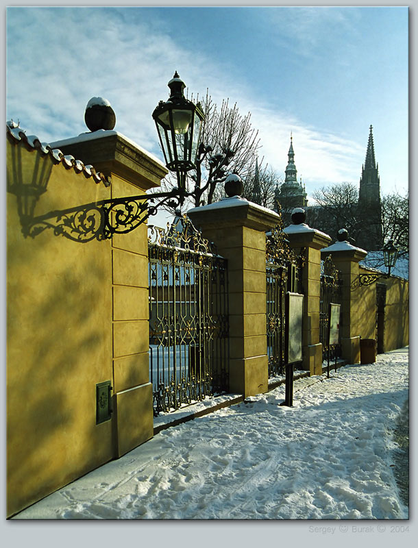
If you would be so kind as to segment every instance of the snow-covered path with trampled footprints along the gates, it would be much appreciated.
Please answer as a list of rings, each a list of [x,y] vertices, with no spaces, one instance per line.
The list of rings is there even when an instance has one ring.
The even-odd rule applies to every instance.
[[[15,519],[406,519],[393,429],[408,351],[163,430]]]

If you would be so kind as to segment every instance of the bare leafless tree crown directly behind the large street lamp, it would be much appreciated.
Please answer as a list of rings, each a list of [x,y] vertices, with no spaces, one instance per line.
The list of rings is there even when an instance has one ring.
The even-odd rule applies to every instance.
[[[206,92],[201,102],[205,119],[201,129],[201,145],[197,151],[196,169],[187,174],[188,190],[195,192],[193,200],[186,200],[183,209],[212,203],[218,195],[217,186],[229,173],[238,173],[245,180],[254,171],[257,151],[260,148],[258,132],[251,127],[251,113],[240,114],[238,106],[222,101],[221,108]],[[168,175],[162,190],[173,188],[177,182]],[[173,212],[169,206],[166,208]]]

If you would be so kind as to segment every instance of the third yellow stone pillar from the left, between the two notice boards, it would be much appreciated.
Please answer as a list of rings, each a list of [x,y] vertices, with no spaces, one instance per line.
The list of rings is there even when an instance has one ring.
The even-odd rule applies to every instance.
[[[295,223],[295,216],[292,216]],[[321,248],[331,241],[328,234],[310,228],[304,216],[298,224],[289,225],[284,234],[289,245],[296,253],[305,248],[305,266],[302,270],[302,287],[304,289],[304,325],[302,366],[310,375],[322,374],[322,344],[319,342],[319,299],[321,278]]]

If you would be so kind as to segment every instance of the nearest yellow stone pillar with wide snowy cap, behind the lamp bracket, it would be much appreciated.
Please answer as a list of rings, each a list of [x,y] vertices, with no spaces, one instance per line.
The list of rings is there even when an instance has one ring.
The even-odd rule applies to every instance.
[[[110,176],[112,198],[142,195],[167,175],[159,160],[111,130],[82,134],[53,147]],[[146,224],[112,237],[112,272],[103,284],[112,292],[112,421],[115,456],[121,456],[153,436]]]

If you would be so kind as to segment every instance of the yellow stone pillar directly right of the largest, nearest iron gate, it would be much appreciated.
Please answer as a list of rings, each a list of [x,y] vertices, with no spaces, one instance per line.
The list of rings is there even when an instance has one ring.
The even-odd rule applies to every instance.
[[[268,390],[266,234],[275,212],[237,196],[188,211],[219,255],[228,259],[230,391],[245,397]]]

